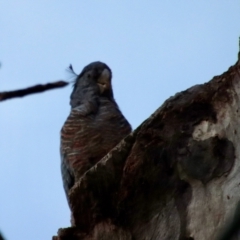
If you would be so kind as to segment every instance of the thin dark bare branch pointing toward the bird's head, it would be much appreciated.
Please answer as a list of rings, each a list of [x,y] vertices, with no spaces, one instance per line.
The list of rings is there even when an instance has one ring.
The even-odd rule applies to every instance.
[[[0,101],[4,101],[10,98],[15,97],[24,97],[29,94],[40,93],[47,90],[61,88],[67,86],[69,83],[65,81],[57,81],[47,84],[38,84],[32,87],[15,90],[15,91],[8,91],[8,92],[0,92]]]

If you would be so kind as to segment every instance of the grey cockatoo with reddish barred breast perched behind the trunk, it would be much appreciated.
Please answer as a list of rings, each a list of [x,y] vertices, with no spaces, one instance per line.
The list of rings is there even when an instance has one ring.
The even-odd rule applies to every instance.
[[[110,68],[102,62],[87,65],[76,77],[71,112],[61,130],[61,172],[67,198],[74,183],[131,132],[114,100],[111,78]]]

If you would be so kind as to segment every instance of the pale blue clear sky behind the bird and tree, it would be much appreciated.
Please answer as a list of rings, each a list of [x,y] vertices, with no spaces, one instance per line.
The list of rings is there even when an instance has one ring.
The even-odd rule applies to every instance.
[[[68,79],[93,61],[113,72],[115,99],[136,128],[167,98],[237,60],[238,0],[3,0],[0,91]],[[72,87],[0,103],[0,229],[51,239],[70,226],[59,131]]]

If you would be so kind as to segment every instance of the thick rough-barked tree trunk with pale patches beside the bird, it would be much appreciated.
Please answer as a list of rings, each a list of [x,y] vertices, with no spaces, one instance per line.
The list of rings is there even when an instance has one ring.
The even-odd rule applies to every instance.
[[[239,107],[238,64],[168,99],[71,189],[54,239],[215,239],[240,199]]]

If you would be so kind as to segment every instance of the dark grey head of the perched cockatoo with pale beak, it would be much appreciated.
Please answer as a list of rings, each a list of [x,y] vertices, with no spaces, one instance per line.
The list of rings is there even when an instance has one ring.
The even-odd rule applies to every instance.
[[[107,97],[113,99],[111,69],[102,62],[93,62],[83,68],[77,76],[71,105],[78,105],[92,97]]]

